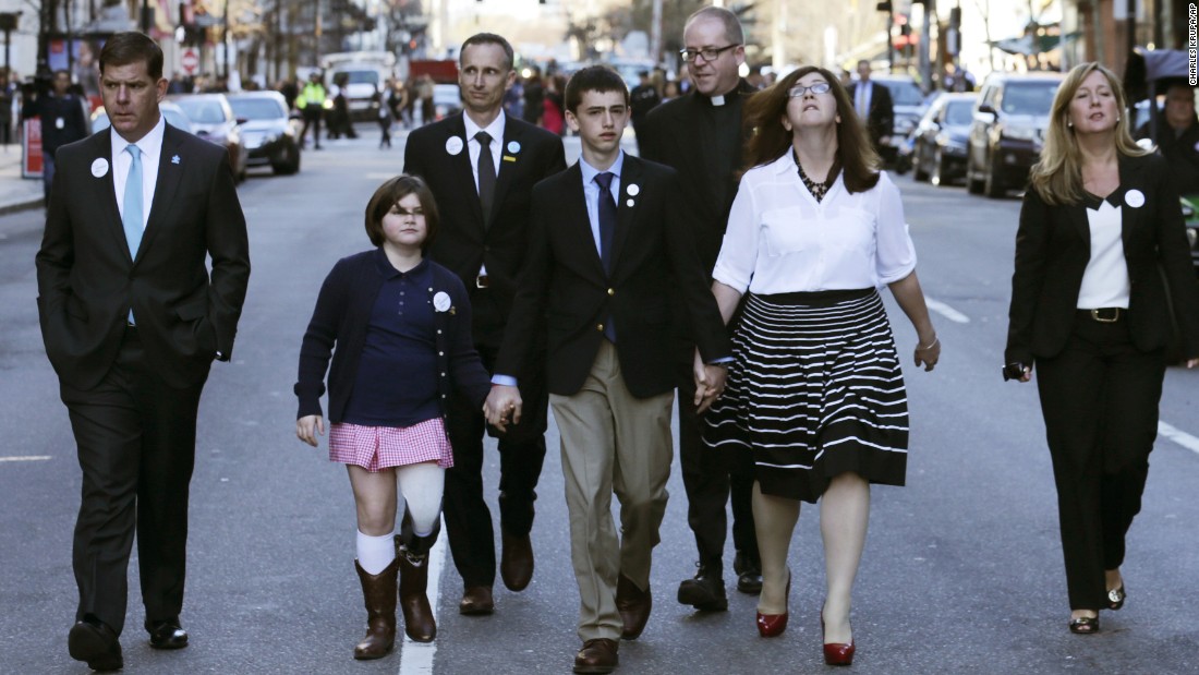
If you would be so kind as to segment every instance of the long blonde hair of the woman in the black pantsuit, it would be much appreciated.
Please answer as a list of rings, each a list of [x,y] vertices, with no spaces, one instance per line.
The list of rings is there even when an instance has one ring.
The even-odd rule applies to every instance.
[[[1058,94],[1053,100],[1053,108],[1049,113],[1049,128],[1046,132],[1046,145],[1041,151],[1041,161],[1032,165],[1029,173],[1029,182],[1032,189],[1037,191],[1046,204],[1078,204],[1083,199],[1083,155],[1078,149],[1078,140],[1074,138],[1074,129],[1068,126],[1070,103],[1074,100],[1078,89],[1083,86],[1083,80],[1092,72],[1098,71],[1108,80],[1108,86],[1116,97],[1115,144],[1116,152],[1125,157],[1139,157],[1147,155],[1132,140],[1128,132],[1128,115],[1123,114],[1127,108],[1123,88],[1120,86],[1120,78],[1098,61],[1079,64],[1071,68],[1058,88]]]

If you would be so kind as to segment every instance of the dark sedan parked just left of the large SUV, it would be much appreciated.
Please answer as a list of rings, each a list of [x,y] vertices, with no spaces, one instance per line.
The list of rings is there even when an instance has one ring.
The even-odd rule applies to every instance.
[[[912,132],[912,177],[948,185],[966,174],[966,140],[977,94],[941,94]]]

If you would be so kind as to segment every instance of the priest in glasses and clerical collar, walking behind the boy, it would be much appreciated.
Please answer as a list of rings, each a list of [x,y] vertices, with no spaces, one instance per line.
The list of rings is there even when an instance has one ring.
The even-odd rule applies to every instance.
[[[683,61],[695,86],[691,92],[650,112],[638,132],[637,143],[646,159],[673,167],[682,177],[677,209],[694,211],[689,223],[704,271],[711,276],[721,252],[729,209],[737,192],[741,147],[746,129],[741,106],[754,89],[737,74],[745,62],[745,35],[736,14],[721,7],[705,7],[687,19],[683,28]],[[727,504],[731,492],[733,566],[737,590],[761,591],[761,563],[754,534],[749,498],[753,472],[730,465],[723,453],[704,447],[700,420],[686,405],[693,396],[691,344],[676,350],[679,386],[679,462],[687,490],[687,524],[695,534],[699,571],[679,585],[679,602],[699,610],[725,610],[724,538],[728,531]]]

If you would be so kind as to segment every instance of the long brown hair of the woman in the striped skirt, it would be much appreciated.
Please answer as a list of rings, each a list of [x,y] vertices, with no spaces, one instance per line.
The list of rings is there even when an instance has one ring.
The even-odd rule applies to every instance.
[[[746,143],[746,169],[769,164],[790,150],[791,132],[783,127],[787,103],[791,100],[788,92],[808,73],[820,73],[829,83],[829,94],[837,101],[837,116],[840,117],[837,122],[837,163],[844,174],[845,189],[850,193],[870,189],[879,182],[879,155],[840,80],[818,66],[803,66],[746,101],[742,114],[746,127],[753,129]]]

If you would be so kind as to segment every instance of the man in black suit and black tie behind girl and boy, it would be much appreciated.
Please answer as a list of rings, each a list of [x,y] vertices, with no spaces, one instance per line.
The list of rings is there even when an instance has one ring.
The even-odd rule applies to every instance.
[[[441,229],[429,255],[466,284],[475,348],[489,370],[524,266],[532,186],[566,168],[561,138],[504,113],[504,94],[517,77],[512,59],[512,46],[499,35],[468,38],[459,50],[463,114],[412,132],[404,149],[404,171],[424,179],[441,211]],[[529,532],[546,458],[548,405],[540,373],[530,374],[520,388],[529,415],[499,442],[500,575],[513,591],[524,590],[532,578]],[[452,402],[450,411],[454,466],[446,471],[444,513],[464,586],[458,610],[490,614],[495,535],[483,499],[484,420],[468,400]]]

